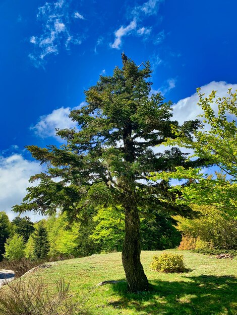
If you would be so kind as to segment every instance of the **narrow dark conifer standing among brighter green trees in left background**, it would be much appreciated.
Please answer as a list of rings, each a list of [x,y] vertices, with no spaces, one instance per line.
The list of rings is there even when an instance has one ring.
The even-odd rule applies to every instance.
[[[49,242],[48,242],[48,233],[42,221],[38,222],[32,236],[34,240],[35,257],[37,259],[45,258],[49,252]]]

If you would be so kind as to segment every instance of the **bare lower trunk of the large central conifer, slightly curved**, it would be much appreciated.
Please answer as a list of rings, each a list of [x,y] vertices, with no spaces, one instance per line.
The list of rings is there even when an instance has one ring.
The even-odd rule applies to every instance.
[[[131,292],[148,290],[149,283],[140,262],[140,220],[137,207],[125,209],[125,241],[122,251],[123,266]]]

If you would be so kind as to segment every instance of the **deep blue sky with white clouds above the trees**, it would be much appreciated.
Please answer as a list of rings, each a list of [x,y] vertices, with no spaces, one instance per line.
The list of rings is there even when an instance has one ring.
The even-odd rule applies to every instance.
[[[10,213],[41,170],[25,145],[60,143],[72,108],[121,53],[150,60],[153,90],[195,118],[197,87],[237,89],[234,0],[1,0],[0,211]]]

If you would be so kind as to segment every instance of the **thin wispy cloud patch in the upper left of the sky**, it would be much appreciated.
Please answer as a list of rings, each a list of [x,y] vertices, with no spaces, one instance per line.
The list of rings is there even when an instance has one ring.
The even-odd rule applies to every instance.
[[[35,66],[43,65],[46,56],[58,54],[62,47],[70,49],[70,44],[81,44],[81,38],[73,34],[70,28],[73,19],[84,20],[84,17],[78,12],[71,15],[69,2],[66,0],[45,3],[38,8],[37,20],[41,23],[42,32],[29,39],[34,45],[34,51],[29,54],[29,58]]]

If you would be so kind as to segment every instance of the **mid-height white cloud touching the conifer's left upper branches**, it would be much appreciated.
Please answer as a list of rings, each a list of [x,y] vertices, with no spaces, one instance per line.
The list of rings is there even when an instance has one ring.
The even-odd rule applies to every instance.
[[[55,135],[55,129],[76,127],[77,123],[69,118],[69,114],[72,109],[79,109],[83,105],[85,105],[85,102],[82,102],[79,106],[74,108],[61,107],[54,109],[50,114],[41,116],[39,122],[31,127],[31,129],[41,138],[56,137],[57,140],[60,140],[60,138]]]

